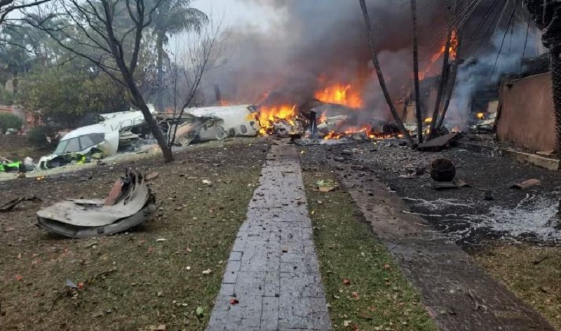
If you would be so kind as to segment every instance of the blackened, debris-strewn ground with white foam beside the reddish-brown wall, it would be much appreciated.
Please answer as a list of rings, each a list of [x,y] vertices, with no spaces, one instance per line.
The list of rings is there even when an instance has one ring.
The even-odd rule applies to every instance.
[[[400,140],[302,147],[304,167],[353,169],[374,173],[412,210],[433,224],[448,241],[480,245],[492,239],[561,244],[557,208],[561,179],[557,173],[464,149],[438,153],[412,151]],[[428,166],[447,158],[457,167],[457,179],[469,187],[435,190]],[[535,178],[541,185],[511,189],[515,183]]]

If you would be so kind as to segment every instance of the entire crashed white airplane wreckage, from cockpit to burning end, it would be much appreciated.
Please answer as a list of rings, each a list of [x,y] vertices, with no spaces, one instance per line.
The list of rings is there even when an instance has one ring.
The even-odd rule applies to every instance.
[[[367,140],[397,133],[395,127],[384,121],[365,121],[365,112],[359,109],[318,100],[314,100],[307,109],[295,105],[269,107],[241,104],[189,108],[181,116],[158,114],[154,110],[152,114],[168,137],[176,137],[177,146],[257,135]],[[53,154],[43,156],[36,169],[88,163],[114,156],[119,151],[136,151],[142,145],[152,143],[154,140],[142,112],[131,110],[104,114],[100,123],[78,128],[62,137]]]

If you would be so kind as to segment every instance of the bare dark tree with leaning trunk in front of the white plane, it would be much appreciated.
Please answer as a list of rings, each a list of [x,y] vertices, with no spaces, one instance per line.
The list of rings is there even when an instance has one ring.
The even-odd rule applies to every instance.
[[[128,89],[130,101],[140,109],[156,138],[165,163],[173,153],[152,116],[137,81],[144,36],[152,15],[170,0],[61,0],[49,13],[28,13],[27,22],[46,32],[60,47],[88,60],[116,83]],[[65,20],[53,26],[55,20]],[[84,37],[76,39],[76,32]]]

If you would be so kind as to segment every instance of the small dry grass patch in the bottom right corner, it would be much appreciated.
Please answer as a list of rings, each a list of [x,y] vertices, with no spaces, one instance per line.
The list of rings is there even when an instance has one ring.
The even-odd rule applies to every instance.
[[[491,247],[475,254],[475,259],[561,330],[561,248]]]

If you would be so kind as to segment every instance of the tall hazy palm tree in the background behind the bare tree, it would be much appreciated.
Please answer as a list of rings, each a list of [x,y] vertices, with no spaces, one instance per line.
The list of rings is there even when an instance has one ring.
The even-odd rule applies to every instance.
[[[163,46],[168,43],[168,35],[194,30],[200,32],[208,22],[208,16],[196,8],[191,8],[191,0],[165,0],[152,14],[152,29],[156,36],[156,49],[158,51],[158,90],[157,107],[163,111]]]

